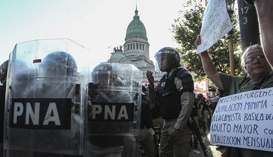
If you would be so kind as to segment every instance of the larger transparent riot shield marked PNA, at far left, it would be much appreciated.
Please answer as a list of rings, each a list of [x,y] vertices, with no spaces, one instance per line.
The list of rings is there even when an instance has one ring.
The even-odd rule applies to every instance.
[[[69,39],[16,44],[9,57],[4,157],[85,157],[89,53]]]

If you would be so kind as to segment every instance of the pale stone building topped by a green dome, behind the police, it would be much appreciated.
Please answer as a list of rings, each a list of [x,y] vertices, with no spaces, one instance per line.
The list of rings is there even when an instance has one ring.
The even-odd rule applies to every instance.
[[[140,21],[136,7],[135,16],[127,27],[125,43],[120,48],[114,48],[108,62],[133,64],[143,72],[143,81],[147,80],[146,72],[153,72],[154,80],[157,82],[163,73],[154,72],[154,64],[149,56],[149,42],[144,24]],[[148,81],[147,81],[148,82]]]

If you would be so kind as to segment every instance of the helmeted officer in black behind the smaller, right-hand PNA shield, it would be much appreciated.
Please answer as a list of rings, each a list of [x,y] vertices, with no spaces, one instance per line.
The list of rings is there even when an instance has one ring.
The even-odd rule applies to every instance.
[[[126,113],[130,117],[133,108],[129,106],[135,102],[133,99],[137,99],[125,90],[117,66],[114,63],[99,63],[91,71],[89,96],[92,113],[88,121],[88,157],[135,157],[138,151],[136,138],[131,132],[135,123],[116,116]],[[122,110],[123,107],[126,110]],[[107,110],[111,111],[112,116],[116,113],[114,119],[109,117],[110,113],[104,115]]]

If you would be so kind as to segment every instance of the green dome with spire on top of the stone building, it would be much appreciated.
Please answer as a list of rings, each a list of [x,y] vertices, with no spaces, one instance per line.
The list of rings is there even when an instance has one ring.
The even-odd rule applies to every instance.
[[[136,35],[147,38],[146,28],[143,25],[143,23],[139,20],[137,7],[135,10],[134,19],[133,21],[131,21],[131,23],[127,27],[125,38],[129,36],[136,36]]]

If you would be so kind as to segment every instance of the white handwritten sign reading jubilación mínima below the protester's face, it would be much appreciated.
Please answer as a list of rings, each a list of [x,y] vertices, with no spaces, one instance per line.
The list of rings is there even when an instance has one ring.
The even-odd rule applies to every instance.
[[[273,152],[273,87],[222,97],[212,116],[210,140]]]

